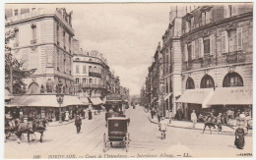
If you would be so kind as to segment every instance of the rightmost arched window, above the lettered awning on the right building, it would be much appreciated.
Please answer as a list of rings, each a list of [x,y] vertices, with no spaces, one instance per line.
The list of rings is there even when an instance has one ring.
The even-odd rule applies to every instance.
[[[242,77],[237,73],[228,73],[224,77],[224,87],[243,86]]]

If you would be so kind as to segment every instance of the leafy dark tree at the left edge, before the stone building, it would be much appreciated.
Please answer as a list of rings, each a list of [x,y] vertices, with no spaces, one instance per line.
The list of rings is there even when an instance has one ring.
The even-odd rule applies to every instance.
[[[13,85],[18,83],[25,85],[23,79],[29,78],[35,72],[34,69],[27,70],[23,68],[25,61],[17,60],[12,54],[12,47],[8,46],[10,40],[16,37],[16,29],[9,29],[5,32],[5,80],[10,80],[9,86],[11,94],[13,94]]]

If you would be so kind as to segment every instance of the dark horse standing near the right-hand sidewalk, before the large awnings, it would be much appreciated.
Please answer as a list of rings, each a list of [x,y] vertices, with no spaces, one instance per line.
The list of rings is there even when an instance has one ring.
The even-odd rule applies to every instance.
[[[221,124],[217,124],[217,118],[215,116],[213,116],[211,119],[209,116],[203,116],[202,114],[200,114],[198,116],[199,120],[202,120],[205,124],[203,133],[205,133],[206,127],[209,128],[210,132],[212,133],[211,128],[213,127],[214,129],[216,129],[216,126],[218,127],[219,132],[222,132],[222,126]],[[210,120],[209,120],[210,119]]]

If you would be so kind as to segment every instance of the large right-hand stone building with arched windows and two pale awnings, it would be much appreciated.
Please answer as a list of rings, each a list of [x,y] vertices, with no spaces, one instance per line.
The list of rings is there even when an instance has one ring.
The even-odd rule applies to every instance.
[[[177,109],[184,119],[204,108],[252,112],[252,11],[250,4],[201,6],[182,18]]]

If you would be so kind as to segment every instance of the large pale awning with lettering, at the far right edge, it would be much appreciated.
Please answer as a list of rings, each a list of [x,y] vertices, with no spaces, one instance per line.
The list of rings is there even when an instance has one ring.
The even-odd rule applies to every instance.
[[[217,87],[207,105],[252,105],[252,87]]]

